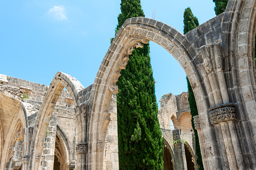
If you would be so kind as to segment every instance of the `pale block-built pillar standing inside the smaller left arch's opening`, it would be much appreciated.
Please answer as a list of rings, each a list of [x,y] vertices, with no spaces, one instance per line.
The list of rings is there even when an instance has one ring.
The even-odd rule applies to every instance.
[[[46,131],[45,143],[43,148],[43,170],[53,170],[54,163],[54,151],[55,151],[55,139],[56,139],[56,127],[57,117],[52,116]],[[39,158],[38,158],[39,161]]]

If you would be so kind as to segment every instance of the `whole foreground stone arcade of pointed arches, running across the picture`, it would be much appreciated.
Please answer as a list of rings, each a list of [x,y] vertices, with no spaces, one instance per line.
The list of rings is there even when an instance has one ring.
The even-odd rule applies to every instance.
[[[105,142],[109,140],[106,134],[113,127],[109,123],[116,114],[111,104],[114,101],[111,100],[113,93],[118,92],[115,83],[121,76],[120,70],[125,69],[128,55],[135,47],[142,47],[142,43],[148,41],[159,44],[175,57],[193,87],[199,110],[195,124],[204,168],[256,169],[255,7],[255,0],[229,0],[225,13],[186,35],[155,20],[141,17],[128,19],[109,47],[92,86],[84,88],[73,77],[58,72],[39,111],[33,114],[35,117],[31,120],[26,115],[32,113],[16,102],[18,100],[1,98],[7,103],[16,102],[10,106],[1,105],[1,169],[5,168],[3,164],[8,162],[8,155],[12,154],[12,147],[9,146],[12,146],[13,139],[19,141],[22,138],[22,146],[18,141],[17,145],[23,147],[23,160],[15,162],[17,168],[22,164],[23,169],[38,169],[44,154],[46,132],[54,124],[50,124],[50,117],[64,87],[76,108],[76,168],[106,168],[103,163]],[[9,92],[18,94],[18,90],[10,89]],[[9,121],[8,114],[14,115],[12,120],[15,121]],[[5,120],[11,125],[4,123]],[[34,126],[28,126],[28,121],[34,121]],[[54,132],[55,129],[51,130]],[[114,159],[117,144],[111,147]],[[49,153],[52,153],[51,150]],[[52,157],[48,156],[48,160],[52,160]],[[117,161],[113,160],[116,164]],[[73,164],[70,164],[71,168]]]

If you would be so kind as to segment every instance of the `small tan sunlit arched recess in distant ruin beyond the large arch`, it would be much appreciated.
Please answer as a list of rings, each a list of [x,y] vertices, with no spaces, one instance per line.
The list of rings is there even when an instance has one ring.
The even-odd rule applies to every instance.
[[[191,113],[190,112],[182,112],[178,117],[179,127],[182,131],[190,132],[192,128],[191,123]]]

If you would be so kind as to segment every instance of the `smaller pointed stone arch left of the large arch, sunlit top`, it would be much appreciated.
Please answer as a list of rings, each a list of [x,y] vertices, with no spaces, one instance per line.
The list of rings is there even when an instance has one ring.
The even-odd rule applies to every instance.
[[[36,117],[35,130],[33,134],[34,139],[34,152],[32,153],[32,169],[38,167],[38,161],[35,161],[35,157],[41,156],[43,151],[44,139],[47,130],[49,120],[52,116],[52,112],[55,109],[56,102],[63,88],[66,88],[75,104],[79,102],[79,91],[83,90],[83,85],[74,77],[57,72],[45,94],[42,105],[39,109],[39,113]]]

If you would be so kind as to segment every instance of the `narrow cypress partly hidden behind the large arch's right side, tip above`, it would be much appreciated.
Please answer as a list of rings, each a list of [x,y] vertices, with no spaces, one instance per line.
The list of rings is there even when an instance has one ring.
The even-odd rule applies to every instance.
[[[194,17],[189,7],[185,9],[183,23],[184,23],[184,30],[183,30],[184,34],[186,34],[187,32],[199,26],[198,18]],[[204,169],[204,166],[203,166],[201,149],[199,144],[198,131],[195,129],[194,118],[193,118],[193,116],[198,115],[198,109],[197,109],[197,103],[196,103],[194,92],[192,90],[192,87],[187,77],[186,77],[186,80],[187,80],[187,89],[188,89],[188,103],[189,103],[190,113],[191,113],[191,123],[195,133],[197,164],[199,165],[199,169],[201,170],[201,169]]]

